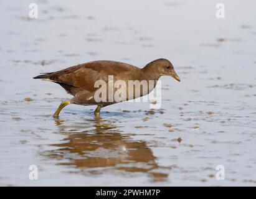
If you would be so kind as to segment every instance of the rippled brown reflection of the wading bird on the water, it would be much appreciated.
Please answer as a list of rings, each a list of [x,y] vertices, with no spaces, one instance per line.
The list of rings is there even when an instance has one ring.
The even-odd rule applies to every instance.
[[[62,160],[60,165],[75,166],[81,172],[97,174],[105,168],[129,173],[141,172],[149,175],[153,181],[167,180],[166,168],[158,165],[147,143],[130,139],[128,134],[121,134],[121,130],[112,122],[90,119],[83,125],[75,124],[72,131],[64,122],[58,126],[59,133],[69,132],[68,136],[64,142],[53,144],[58,148],[48,150],[45,155]],[[74,132],[75,129],[78,132]]]

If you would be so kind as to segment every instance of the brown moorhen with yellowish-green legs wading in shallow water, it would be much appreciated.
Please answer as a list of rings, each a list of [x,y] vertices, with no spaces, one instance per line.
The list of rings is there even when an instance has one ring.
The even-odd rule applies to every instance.
[[[43,75],[35,76],[34,79],[47,79],[58,83],[67,93],[73,95],[72,99],[60,104],[54,113],[54,117],[58,117],[60,111],[70,103],[84,106],[96,104],[97,108],[94,114],[95,117],[99,117],[100,109],[104,106],[148,95],[154,89],[154,86],[156,86],[160,76],[163,75],[172,76],[174,79],[180,81],[172,63],[164,58],[150,62],[144,68],[138,68],[128,63],[105,60],[87,62],[57,72],[44,73]],[[118,98],[117,100],[116,98],[113,99],[113,95],[110,95],[110,93],[115,93],[119,87],[115,86],[115,88],[111,88],[110,85],[113,87],[114,83],[120,83],[118,80],[124,82],[125,85],[129,85],[131,80],[133,82],[137,81],[137,83],[141,83],[141,81],[149,83],[150,80],[153,80],[154,83],[153,87],[148,87],[146,91],[140,90],[139,93],[136,93],[133,90],[131,94],[128,92],[128,87],[124,86],[123,88],[125,90],[121,93],[124,94],[123,98]],[[105,87],[103,85],[104,82]],[[106,92],[103,91],[103,88],[105,88]],[[104,98],[105,100],[99,100],[97,98],[96,94],[99,93],[100,89],[103,92],[100,94],[101,96],[98,96],[101,97],[100,99]]]

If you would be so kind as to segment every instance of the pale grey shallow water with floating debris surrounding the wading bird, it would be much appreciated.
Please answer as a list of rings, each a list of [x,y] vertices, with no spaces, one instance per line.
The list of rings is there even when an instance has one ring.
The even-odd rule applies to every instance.
[[[0,1],[0,185],[256,185],[255,3]],[[120,103],[93,119],[33,80],[91,60],[173,62],[161,109]],[[39,179],[29,180],[37,165]],[[216,179],[216,166],[225,180]]]

